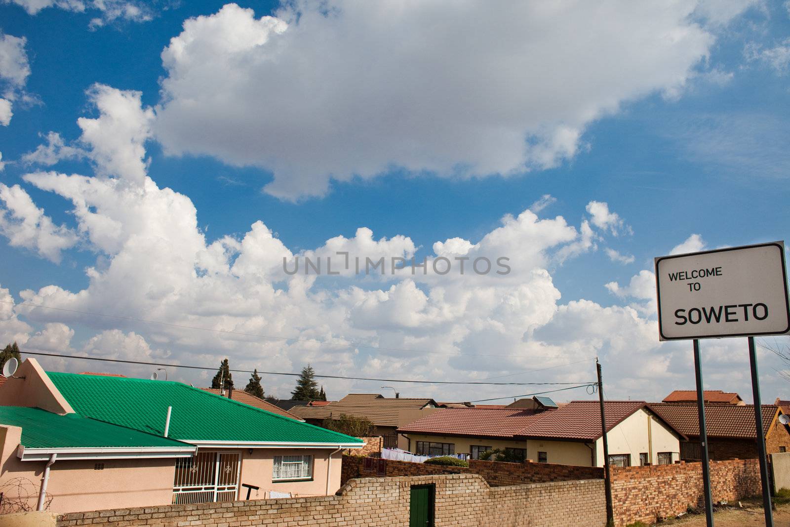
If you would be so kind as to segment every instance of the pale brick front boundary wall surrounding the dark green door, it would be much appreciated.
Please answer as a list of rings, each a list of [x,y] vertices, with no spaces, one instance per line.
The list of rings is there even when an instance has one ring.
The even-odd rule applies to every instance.
[[[333,496],[200,503],[58,516],[58,527],[245,527],[246,525],[322,525],[406,527],[412,485],[435,485],[436,527],[604,527],[603,480],[560,481],[490,487],[477,474],[352,480]]]

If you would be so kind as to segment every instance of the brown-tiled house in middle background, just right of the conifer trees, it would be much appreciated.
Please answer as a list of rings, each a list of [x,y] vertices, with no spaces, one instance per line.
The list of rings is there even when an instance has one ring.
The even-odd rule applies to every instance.
[[[397,427],[427,416],[438,409],[431,398],[384,397],[380,393],[349,393],[323,406],[294,406],[290,412],[321,426],[325,419],[339,419],[341,415],[363,417],[375,426],[375,435],[384,438],[385,447],[407,448],[408,442],[399,439]]]

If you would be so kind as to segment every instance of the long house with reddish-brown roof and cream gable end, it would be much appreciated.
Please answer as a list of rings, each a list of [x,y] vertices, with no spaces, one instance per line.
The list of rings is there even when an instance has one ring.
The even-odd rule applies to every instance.
[[[682,433],[644,401],[605,404],[609,461],[630,466],[679,460]],[[603,466],[600,405],[559,408],[443,408],[398,428],[416,454],[470,454],[506,449],[514,457],[562,465]]]

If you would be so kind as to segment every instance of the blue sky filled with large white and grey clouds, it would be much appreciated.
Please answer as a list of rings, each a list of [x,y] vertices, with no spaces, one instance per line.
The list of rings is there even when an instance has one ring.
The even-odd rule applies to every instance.
[[[0,344],[522,383],[329,399],[507,402],[595,357],[610,399],[691,390],[653,258],[785,239],[788,79],[790,2],[0,0]],[[751,401],[745,338],[702,363]]]

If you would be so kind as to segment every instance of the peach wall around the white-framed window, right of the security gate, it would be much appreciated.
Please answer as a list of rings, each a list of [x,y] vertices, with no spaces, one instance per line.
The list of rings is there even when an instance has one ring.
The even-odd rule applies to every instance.
[[[240,484],[250,484],[261,487],[252,491],[250,499],[268,498],[269,491],[291,492],[299,496],[332,495],[340,488],[340,465],[342,454],[338,452],[332,456],[331,474],[329,476],[329,489],[326,486],[326,473],[329,466],[329,454],[335,449],[252,449],[242,451],[242,474]],[[284,481],[272,480],[274,471],[274,457],[288,455],[312,455],[313,478],[310,481]],[[240,487],[239,499],[246,498],[246,488]],[[257,493],[257,494],[256,494]]]

